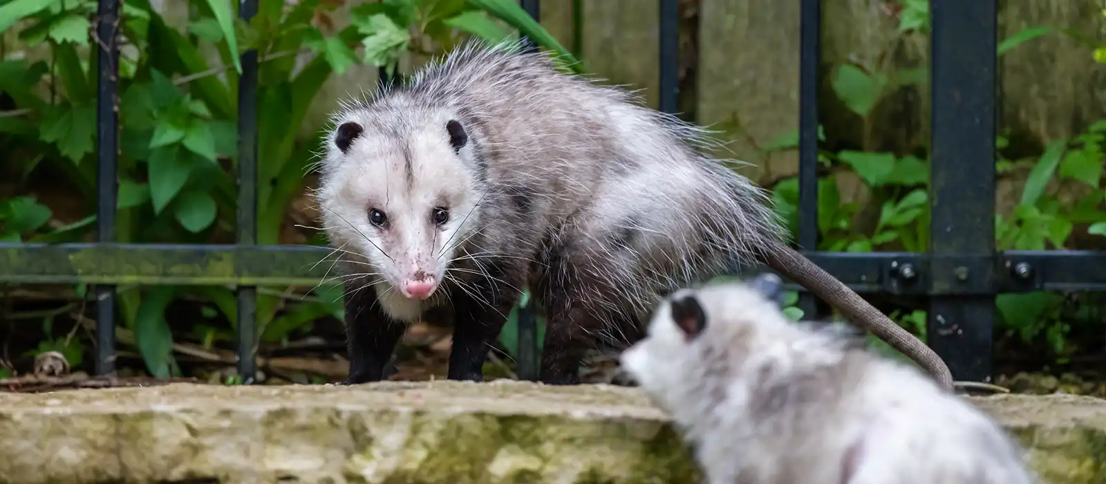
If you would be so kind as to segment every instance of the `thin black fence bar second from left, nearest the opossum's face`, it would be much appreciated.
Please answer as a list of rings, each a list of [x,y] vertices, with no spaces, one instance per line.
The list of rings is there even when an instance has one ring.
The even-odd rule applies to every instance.
[[[240,0],[238,15],[249,20],[258,12],[258,0]],[[238,78],[238,244],[258,242],[258,51],[242,53]],[[258,290],[238,286],[238,375],[252,383],[257,373]]]

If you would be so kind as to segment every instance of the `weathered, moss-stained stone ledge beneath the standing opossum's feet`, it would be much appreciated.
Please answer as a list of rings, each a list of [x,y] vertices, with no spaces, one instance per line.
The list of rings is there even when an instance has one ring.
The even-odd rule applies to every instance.
[[[975,400],[1048,482],[1106,482],[1106,401]],[[0,393],[0,455],[7,483],[698,482],[639,391],[514,381]]]

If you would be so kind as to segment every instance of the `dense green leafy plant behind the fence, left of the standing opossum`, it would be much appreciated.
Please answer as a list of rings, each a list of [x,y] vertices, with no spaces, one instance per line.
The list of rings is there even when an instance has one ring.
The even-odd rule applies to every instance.
[[[94,207],[93,159],[96,52],[95,0],[0,2],[0,27],[19,29],[23,49],[48,59],[0,60],[0,93],[14,109],[0,113],[0,143],[36,157],[17,162],[24,173],[43,167]],[[288,209],[303,192],[319,139],[298,136],[307,108],[335,73],[368,64],[394,73],[405,52],[432,53],[466,36],[498,42],[525,35],[581,64],[514,0],[384,0],[349,10],[349,25],[328,32],[337,2],[260,2],[250,21],[229,0],[190,0],[187,28],[177,30],[148,0],[125,0],[119,35],[119,162],[117,240],[135,243],[211,243],[231,240],[236,225],[238,155],[236,92],[240,55],[253,50],[258,82],[258,243],[280,242]],[[0,52],[11,52],[8,46]],[[299,61],[299,62],[298,62]],[[91,212],[91,210],[90,210]],[[76,241],[94,225],[90,213],[51,229],[51,212],[28,197],[0,200],[4,241]],[[321,243],[322,240],[316,240]],[[264,341],[279,343],[319,317],[342,317],[342,290],[315,288],[286,304],[288,288],[259,288],[257,322]],[[157,286],[121,291],[123,324],[135,332],[149,372],[176,375],[174,335],[166,308],[178,298],[205,301],[230,323],[206,323],[206,345],[232,339],[237,324],[232,287]],[[210,318],[210,316],[209,316]]]

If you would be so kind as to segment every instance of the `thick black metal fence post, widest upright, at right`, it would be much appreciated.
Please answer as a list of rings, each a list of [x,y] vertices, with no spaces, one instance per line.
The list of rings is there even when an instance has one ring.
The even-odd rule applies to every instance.
[[[932,0],[932,222],[935,287],[994,285],[990,266],[956,256],[994,260],[994,156],[998,0]],[[988,278],[982,281],[982,278]],[[930,299],[928,343],[958,380],[991,378],[994,294]]]

